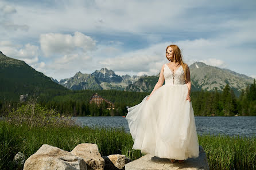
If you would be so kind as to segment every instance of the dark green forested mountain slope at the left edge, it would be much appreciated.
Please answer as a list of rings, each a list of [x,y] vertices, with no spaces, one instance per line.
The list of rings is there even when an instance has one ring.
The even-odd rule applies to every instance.
[[[0,100],[18,101],[21,94],[57,95],[69,89],[27,65],[0,52]]]

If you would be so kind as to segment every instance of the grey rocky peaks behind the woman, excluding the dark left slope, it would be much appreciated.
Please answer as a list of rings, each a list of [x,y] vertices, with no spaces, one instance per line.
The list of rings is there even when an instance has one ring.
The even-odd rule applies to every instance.
[[[222,90],[226,84],[230,85],[236,96],[253,83],[253,78],[244,74],[222,69],[216,66],[206,65],[203,62],[195,62],[189,66],[191,73],[192,91]],[[118,76],[113,70],[102,68],[91,74],[77,72],[71,78],[60,80],[59,84],[72,90],[82,89],[118,89],[133,92],[150,92],[158,81],[156,76]]]

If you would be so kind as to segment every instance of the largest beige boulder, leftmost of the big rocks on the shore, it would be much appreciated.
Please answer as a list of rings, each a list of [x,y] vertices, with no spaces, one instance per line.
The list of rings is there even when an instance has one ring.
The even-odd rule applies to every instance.
[[[44,144],[25,161],[24,170],[30,169],[87,170],[87,167],[82,157],[75,156],[71,152],[64,151],[60,148]]]

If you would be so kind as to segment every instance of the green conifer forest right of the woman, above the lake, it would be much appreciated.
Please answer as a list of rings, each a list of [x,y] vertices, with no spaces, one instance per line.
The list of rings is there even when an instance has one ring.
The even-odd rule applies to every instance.
[[[222,92],[192,92],[191,100],[197,116],[256,116],[255,79],[239,97],[227,84]]]

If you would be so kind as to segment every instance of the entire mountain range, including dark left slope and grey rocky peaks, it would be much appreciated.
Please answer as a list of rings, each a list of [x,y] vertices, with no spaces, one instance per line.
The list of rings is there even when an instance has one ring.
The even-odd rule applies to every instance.
[[[222,90],[229,84],[236,96],[242,89],[253,84],[253,78],[244,74],[222,69],[216,66],[206,65],[203,62],[195,62],[189,66],[191,72],[192,91]],[[28,93],[34,90],[46,92],[54,90],[83,90],[83,89],[117,89],[133,92],[151,92],[158,81],[156,76],[119,76],[111,69],[102,68],[91,74],[77,72],[71,78],[57,81],[43,73],[37,72],[24,61],[7,57],[0,52],[0,93],[1,96],[13,96],[14,93]],[[65,88],[64,88],[64,87]]]

